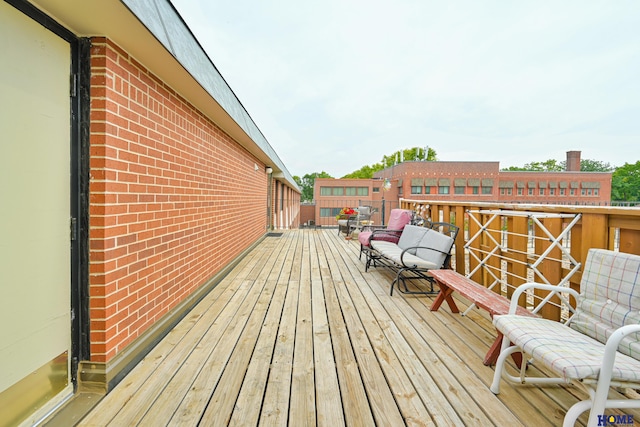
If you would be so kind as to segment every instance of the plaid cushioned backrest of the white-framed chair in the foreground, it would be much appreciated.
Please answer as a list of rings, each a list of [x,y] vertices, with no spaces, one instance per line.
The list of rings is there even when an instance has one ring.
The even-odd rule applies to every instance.
[[[640,323],[640,256],[590,249],[571,328],[602,343],[621,326]],[[622,353],[640,359],[640,333],[625,337]]]

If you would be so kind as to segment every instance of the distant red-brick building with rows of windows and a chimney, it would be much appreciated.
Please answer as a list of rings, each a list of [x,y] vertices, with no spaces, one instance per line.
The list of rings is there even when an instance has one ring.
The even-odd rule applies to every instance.
[[[343,206],[372,205],[379,214],[384,206],[386,216],[399,198],[564,205],[610,203],[611,172],[580,172],[579,151],[567,152],[566,164],[564,172],[513,172],[501,171],[499,162],[408,161],[377,172],[373,179],[317,179],[316,222],[335,225],[333,217]]]

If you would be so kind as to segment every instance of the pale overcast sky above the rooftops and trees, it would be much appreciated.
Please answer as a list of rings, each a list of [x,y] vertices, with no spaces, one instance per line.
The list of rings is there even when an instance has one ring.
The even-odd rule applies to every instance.
[[[171,2],[292,175],[640,160],[640,1]]]

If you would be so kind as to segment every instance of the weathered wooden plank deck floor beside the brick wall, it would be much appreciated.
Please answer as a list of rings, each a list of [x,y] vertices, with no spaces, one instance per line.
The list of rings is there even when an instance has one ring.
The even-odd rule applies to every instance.
[[[358,251],[335,229],[265,238],[80,425],[540,427],[582,396],[494,396],[486,313],[390,297]]]

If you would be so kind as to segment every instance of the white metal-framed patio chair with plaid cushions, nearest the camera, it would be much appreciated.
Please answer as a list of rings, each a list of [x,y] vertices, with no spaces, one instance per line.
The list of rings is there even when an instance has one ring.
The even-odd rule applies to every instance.
[[[513,293],[510,313],[532,289],[549,292],[540,306],[555,295],[572,315],[564,324],[517,314],[495,316],[493,323],[504,338],[491,391],[500,392],[501,377],[516,384],[572,383],[585,388],[589,398],[569,408],[564,426],[573,426],[586,410],[588,425],[596,426],[614,424],[609,424],[608,408],[640,408],[639,399],[609,398],[610,387],[640,388],[640,256],[590,249],[580,293],[566,286],[525,283]],[[569,296],[576,300],[575,309],[568,304]],[[507,373],[505,362],[515,352],[530,355],[532,363],[546,366],[557,377],[527,376],[526,363],[520,375]],[[627,424],[629,418],[621,417]]]

